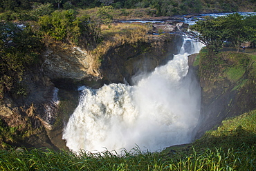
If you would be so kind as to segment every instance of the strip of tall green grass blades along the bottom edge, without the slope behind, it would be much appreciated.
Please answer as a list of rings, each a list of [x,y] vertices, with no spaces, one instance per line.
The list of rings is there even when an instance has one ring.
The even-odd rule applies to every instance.
[[[255,147],[228,151],[192,151],[191,154],[142,152],[134,148],[124,154],[106,151],[93,154],[52,150],[1,150],[1,170],[255,170]]]

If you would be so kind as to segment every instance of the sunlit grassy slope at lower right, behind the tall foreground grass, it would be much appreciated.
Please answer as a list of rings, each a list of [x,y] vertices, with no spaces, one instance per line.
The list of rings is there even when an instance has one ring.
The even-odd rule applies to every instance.
[[[210,130],[194,143],[197,149],[211,144],[211,148],[241,148],[254,146],[256,141],[256,110],[223,121],[217,130]]]

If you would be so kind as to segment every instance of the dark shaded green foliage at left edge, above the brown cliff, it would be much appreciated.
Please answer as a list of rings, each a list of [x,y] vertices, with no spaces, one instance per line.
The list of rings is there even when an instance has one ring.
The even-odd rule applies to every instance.
[[[0,97],[3,92],[12,90],[26,94],[18,82],[23,72],[37,61],[42,49],[39,39],[30,26],[22,28],[14,23],[0,23],[0,48]]]

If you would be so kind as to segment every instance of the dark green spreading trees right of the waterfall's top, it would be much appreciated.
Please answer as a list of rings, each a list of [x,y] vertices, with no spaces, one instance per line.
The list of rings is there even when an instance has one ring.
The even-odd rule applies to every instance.
[[[256,17],[244,17],[240,14],[229,14],[226,17],[206,17],[190,26],[188,35],[205,44],[210,52],[218,52],[224,41],[229,41],[237,48],[237,52],[244,41],[250,41],[255,47]]]

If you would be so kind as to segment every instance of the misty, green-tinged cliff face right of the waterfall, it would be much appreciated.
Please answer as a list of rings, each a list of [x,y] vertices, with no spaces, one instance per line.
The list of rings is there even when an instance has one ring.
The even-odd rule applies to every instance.
[[[255,62],[250,57],[236,52],[223,53],[219,56],[222,63],[214,64],[214,68],[205,68],[205,63],[200,66],[201,126],[197,138],[205,131],[218,126],[223,119],[256,108]],[[240,68],[240,76],[235,79],[227,74],[232,67]]]

